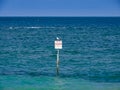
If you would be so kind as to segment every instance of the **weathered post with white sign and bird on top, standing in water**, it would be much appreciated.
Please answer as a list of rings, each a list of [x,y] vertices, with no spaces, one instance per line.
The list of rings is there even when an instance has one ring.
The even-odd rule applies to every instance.
[[[60,40],[58,37],[57,40],[55,40],[55,49],[57,50],[56,70],[57,75],[59,75],[59,50],[62,49],[62,40]]]

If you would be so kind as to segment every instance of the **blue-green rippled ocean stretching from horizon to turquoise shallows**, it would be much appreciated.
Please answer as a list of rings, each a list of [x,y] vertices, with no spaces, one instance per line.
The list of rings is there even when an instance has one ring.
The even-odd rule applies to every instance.
[[[0,17],[0,90],[120,90],[120,17]]]

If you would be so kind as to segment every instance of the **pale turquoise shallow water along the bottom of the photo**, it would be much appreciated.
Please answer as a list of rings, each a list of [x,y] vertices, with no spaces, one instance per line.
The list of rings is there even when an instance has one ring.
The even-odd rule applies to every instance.
[[[119,90],[118,83],[97,83],[80,78],[2,76],[2,90]]]

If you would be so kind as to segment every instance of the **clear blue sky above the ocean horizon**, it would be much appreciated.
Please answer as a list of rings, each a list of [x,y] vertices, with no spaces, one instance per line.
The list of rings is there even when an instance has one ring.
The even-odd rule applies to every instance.
[[[0,0],[0,16],[120,16],[120,0]]]

